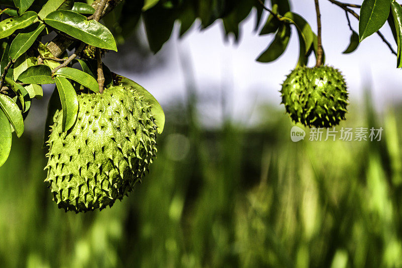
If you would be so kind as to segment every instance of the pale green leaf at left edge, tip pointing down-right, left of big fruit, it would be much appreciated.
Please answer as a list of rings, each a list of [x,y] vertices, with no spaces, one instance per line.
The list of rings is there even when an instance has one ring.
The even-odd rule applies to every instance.
[[[10,97],[0,94],[0,108],[14,127],[17,137],[21,137],[24,132],[24,119],[18,105]]]

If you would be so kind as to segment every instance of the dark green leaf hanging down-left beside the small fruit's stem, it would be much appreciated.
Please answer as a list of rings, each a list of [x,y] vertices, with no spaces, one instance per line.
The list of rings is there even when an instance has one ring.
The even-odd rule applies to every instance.
[[[269,47],[257,58],[259,62],[271,62],[279,58],[285,51],[290,39],[290,26],[283,24]]]

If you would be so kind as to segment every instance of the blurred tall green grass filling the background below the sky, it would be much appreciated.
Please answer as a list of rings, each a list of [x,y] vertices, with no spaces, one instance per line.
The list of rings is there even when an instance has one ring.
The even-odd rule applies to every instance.
[[[211,129],[172,105],[143,184],[85,214],[51,201],[26,133],[0,168],[0,266],[400,267],[402,111],[366,100],[340,127],[381,126],[380,142],[293,143],[282,107]]]

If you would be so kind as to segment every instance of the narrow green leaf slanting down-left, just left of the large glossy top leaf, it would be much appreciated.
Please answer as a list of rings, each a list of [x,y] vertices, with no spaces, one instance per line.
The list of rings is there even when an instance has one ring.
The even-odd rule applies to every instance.
[[[32,46],[43,29],[45,29],[45,25],[39,22],[32,26],[34,26],[32,27],[33,29],[19,33],[11,43],[9,56],[13,59],[17,59],[25,53]]]

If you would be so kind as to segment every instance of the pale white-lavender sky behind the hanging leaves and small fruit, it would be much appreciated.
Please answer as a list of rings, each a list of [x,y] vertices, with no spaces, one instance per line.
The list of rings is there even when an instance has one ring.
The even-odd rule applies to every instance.
[[[361,1],[349,3],[361,4]],[[371,85],[378,110],[399,102],[402,99],[402,72],[396,68],[396,56],[390,53],[376,34],[366,38],[354,53],[342,54],[351,35],[345,12],[326,0],[320,0],[320,5],[326,64],[342,70],[349,86],[351,101],[361,100],[364,86]],[[293,0],[291,6],[292,11],[302,15],[317,32],[314,1]],[[266,17],[265,13],[264,19]],[[358,32],[358,21],[352,16],[350,19],[352,27]],[[215,100],[224,92],[234,117],[249,112],[249,108],[256,104],[270,103],[279,107],[280,84],[297,62],[298,37],[293,28],[285,53],[274,62],[259,63],[255,59],[270,44],[273,36],[259,36],[253,31],[254,23],[253,11],[241,25],[239,44],[234,44],[224,40],[221,21],[203,31],[199,31],[199,22],[196,22],[180,40],[177,39],[177,31],[174,32],[158,52],[169,54],[163,68],[150,73],[119,72],[147,88],[162,106],[168,105],[173,99],[185,96],[185,81],[179,57],[184,54],[192,65],[197,92]],[[387,24],[381,31],[394,45]],[[312,56],[309,65],[314,64],[315,58]]]

